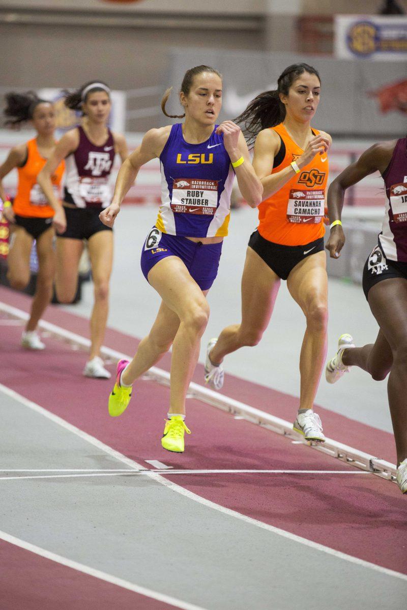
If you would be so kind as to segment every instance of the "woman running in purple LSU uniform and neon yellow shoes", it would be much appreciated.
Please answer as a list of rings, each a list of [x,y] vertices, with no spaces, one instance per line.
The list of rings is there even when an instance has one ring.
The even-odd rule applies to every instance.
[[[170,90],[161,106],[167,117],[171,117],[165,111],[169,95]],[[262,185],[240,128],[232,121],[216,124],[222,107],[218,71],[209,66],[188,70],[179,98],[184,114],[172,118],[185,117],[185,121],[146,133],[121,166],[112,204],[101,218],[112,226],[140,167],[160,159],[162,202],[143,245],[141,265],[162,303],[132,361],[118,363],[109,413],[123,413],[131,384],[172,345],[170,406],[161,444],[168,451],[182,452],[184,432],[189,432],[184,423],[185,396],[209,316],[205,297],[216,278],[223,237],[228,234],[235,172],[240,192],[251,207],[260,203]]]

